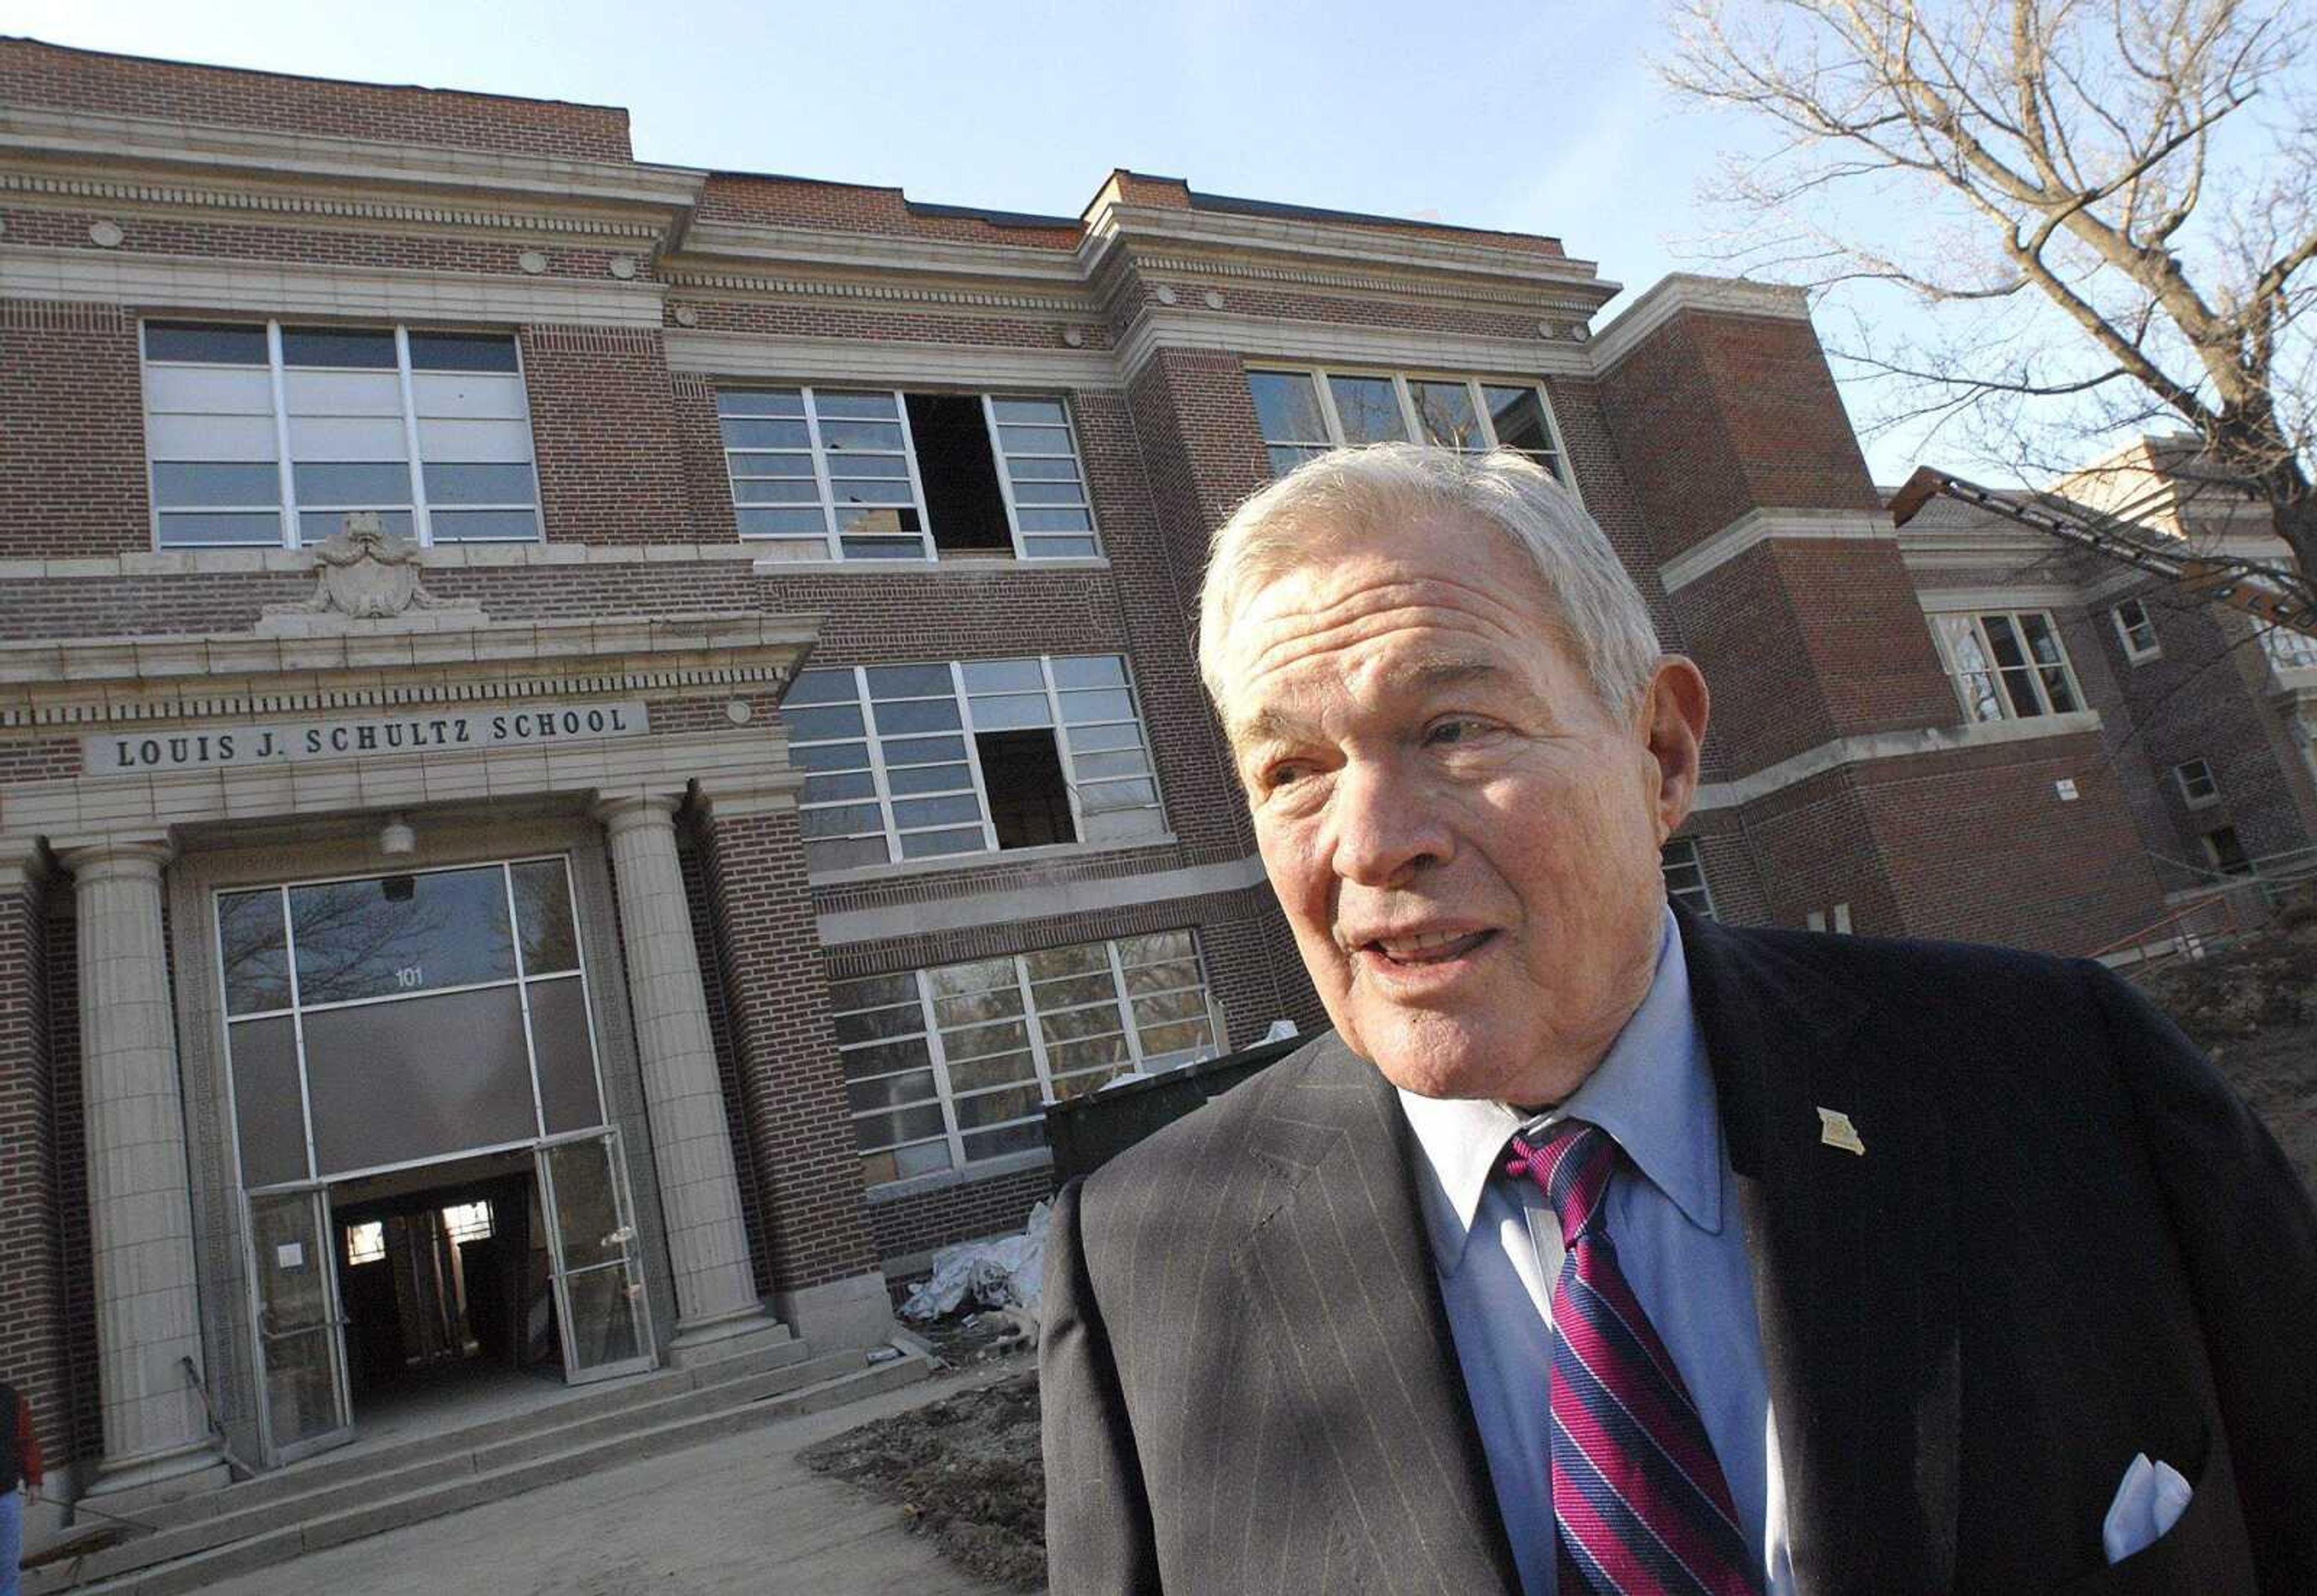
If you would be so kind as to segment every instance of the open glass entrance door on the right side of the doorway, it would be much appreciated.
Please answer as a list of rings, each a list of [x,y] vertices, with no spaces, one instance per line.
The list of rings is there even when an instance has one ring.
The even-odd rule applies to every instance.
[[[563,1378],[572,1385],[651,1367],[644,1274],[619,1133],[598,1130],[538,1149],[540,1209],[563,1323]]]

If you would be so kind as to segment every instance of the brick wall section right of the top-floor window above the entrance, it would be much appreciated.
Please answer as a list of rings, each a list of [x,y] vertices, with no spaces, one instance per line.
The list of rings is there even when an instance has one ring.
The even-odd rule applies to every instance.
[[[653,331],[524,327],[549,542],[697,542],[674,387]]]

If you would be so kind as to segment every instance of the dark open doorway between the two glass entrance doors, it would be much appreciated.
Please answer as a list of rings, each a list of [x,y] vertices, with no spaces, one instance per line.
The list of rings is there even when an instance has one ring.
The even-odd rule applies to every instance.
[[[528,1163],[524,1154],[517,1170],[415,1191],[334,1193],[357,1422],[494,1376],[563,1378],[547,1228]]]

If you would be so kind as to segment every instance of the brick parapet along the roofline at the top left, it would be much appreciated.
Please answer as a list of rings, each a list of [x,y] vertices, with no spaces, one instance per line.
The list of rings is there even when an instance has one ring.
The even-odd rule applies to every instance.
[[[0,39],[0,104],[276,127],[510,155],[630,160],[619,107],[190,67]]]

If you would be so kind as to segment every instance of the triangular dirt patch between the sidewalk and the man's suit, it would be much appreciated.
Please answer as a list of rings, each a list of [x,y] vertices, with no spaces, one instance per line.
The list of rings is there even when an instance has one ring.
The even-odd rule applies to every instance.
[[[955,1566],[1017,1591],[1045,1589],[1045,1471],[1038,1371],[1008,1357],[999,1378],[848,1429],[799,1455],[806,1469],[901,1503],[911,1533]]]

